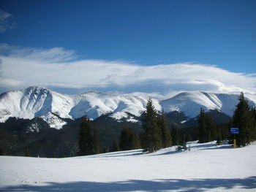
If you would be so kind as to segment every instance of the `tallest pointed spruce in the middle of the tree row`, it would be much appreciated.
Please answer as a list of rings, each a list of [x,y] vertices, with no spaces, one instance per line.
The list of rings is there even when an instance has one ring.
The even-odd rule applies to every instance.
[[[157,123],[157,110],[151,98],[148,99],[146,111],[143,112],[142,128],[144,129],[144,133],[141,139],[144,151],[152,153],[159,150],[162,145],[161,131]]]

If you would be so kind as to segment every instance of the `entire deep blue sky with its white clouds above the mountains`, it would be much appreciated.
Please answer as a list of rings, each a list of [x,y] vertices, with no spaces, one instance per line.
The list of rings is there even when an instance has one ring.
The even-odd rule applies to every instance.
[[[126,72],[124,76],[119,74],[120,77],[114,78],[118,74],[113,74],[113,69],[110,67],[113,63],[116,65],[115,69],[122,71],[125,67],[121,66],[129,66],[129,69],[136,66],[136,70],[143,68],[146,74],[150,71],[149,66],[155,66],[159,71],[162,70],[162,65],[170,66],[166,69],[168,71],[173,70],[171,64],[187,64],[189,67],[193,66],[189,74],[196,71],[198,76],[193,74],[193,78],[189,80],[186,77],[189,83],[195,81],[208,85],[208,80],[214,80],[228,87],[229,91],[232,86],[255,91],[255,76],[252,74],[256,69],[256,1],[2,0],[0,9],[0,54],[2,56],[0,75],[3,78],[0,87],[2,91],[34,82],[35,85],[56,90],[63,91],[64,88],[67,93],[90,89],[163,93],[161,90],[165,90],[166,85],[166,82],[163,82],[170,81],[167,80],[167,74],[165,80],[162,80],[160,77],[165,74],[159,72],[159,76],[154,80],[144,77],[143,80],[128,83],[128,85],[122,78],[127,75]],[[23,59],[28,61],[18,64],[18,61],[11,61],[11,58],[18,58],[20,62]],[[28,75],[25,72],[20,74],[20,77],[15,77],[10,72],[10,67],[8,68],[8,66],[14,68],[18,65],[20,67],[28,64],[29,61],[48,63],[48,66],[56,62],[65,64],[72,62],[73,68],[79,66],[76,66],[78,62],[84,61],[85,64],[81,69],[88,64],[88,61],[91,61],[88,65],[94,65],[96,68],[105,64],[105,73],[102,72],[102,76],[113,80],[106,83],[104,78],[99,77],[88,85],[86,83],[81,85],[78,82],[68,85],[68,81],[56,80],[56,77],[53,78],[54,74],[46,74],[47,71],[45,76],[48,80],[53,79],[51,82],[37,80],[37,75],[34,77],[36,80],[29,80],[25,77]],[[211,74],[208,74],[209,77],[201,78],[197,66],[208,66],[206,71],[218,69],[228,72],[230,76],[243,75],[248,82],[238,85],[235,80],[235,84],[232,85],[227,80],[214,78],[218,75]],[[26,67],[34,69],[31,66],[24,68]],[[20,70],[22,71],[22,67]],[[72,68],[69,70],[72,71]],[[86,70],[86,67],[83,70]],[[91,73],[96,75],[96,69],[91,70],[93,70]],[[134,72],[135,69],[130,70]],[[170,76],[173,76],[173,72],[169,72]],[[87,81],[86,78],[88,77],[85,77]],[[83,80],[82,76],[77,81],[79,80]],[[120,85],[115,81],[122,83]],[[173,80],[173,82],[176,81]],[[156,87],[159,84],[162,86],[161,89]],[[137,85],[136,88],[135,85]],[[179,86],[178,90],[194,91],[193,86],[190,88],[189,85],[184,88]],[[72,89],[76,91],[70,91]],[[195,88],[197,89],[208,91],[205,87]],[[217,91],[221,90],[217,89]]]

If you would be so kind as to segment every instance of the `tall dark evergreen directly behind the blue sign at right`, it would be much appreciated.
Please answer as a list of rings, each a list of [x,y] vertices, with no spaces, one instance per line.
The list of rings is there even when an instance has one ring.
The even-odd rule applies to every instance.
[[[236,144],[238,146],[249,145],[252,139],[253,119],[248,101],[244,98],[244,93],[239,96],[239,102],[232,119],[232,126],[239,128],[239,134],[236,135]]]

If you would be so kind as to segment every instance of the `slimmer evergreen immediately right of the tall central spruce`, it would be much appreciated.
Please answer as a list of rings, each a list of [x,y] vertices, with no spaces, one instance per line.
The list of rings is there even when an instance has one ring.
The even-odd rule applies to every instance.
[[[170,147],[172,145],[172,138],[170,129],[167,128],[165,112],[162,111],[162,113],[159,115],[157,123],[161,131],[162,147]]]

